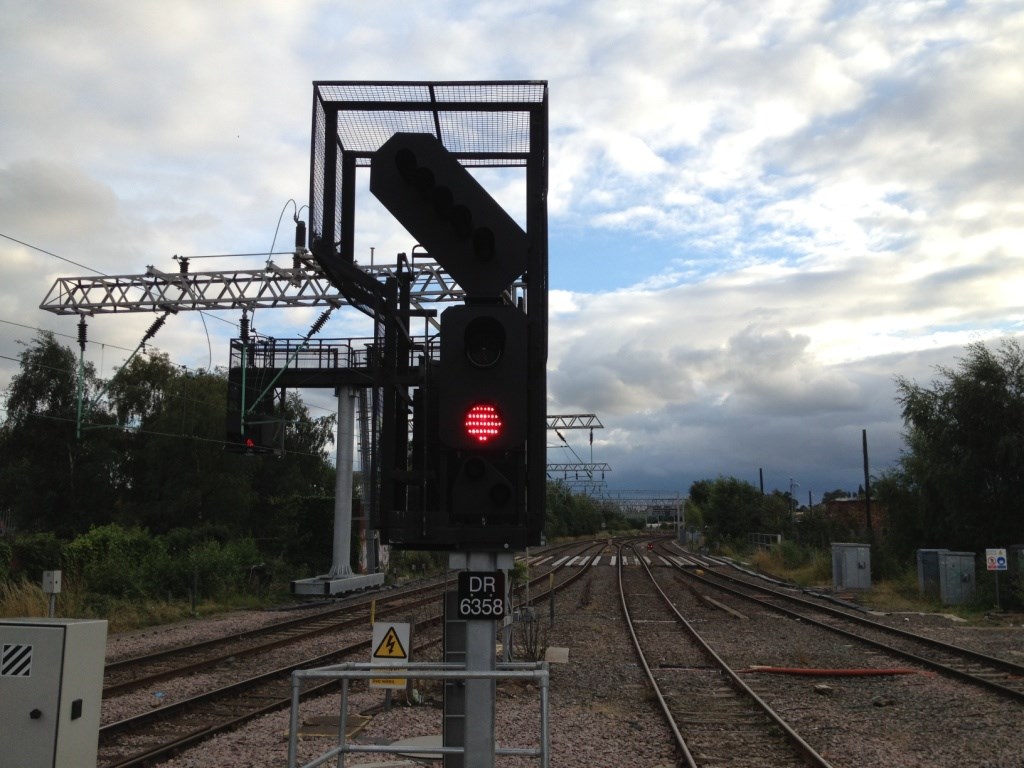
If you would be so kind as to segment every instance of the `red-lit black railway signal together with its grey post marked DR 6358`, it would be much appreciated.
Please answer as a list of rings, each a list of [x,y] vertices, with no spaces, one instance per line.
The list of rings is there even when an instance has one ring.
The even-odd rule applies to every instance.
[[[527,234],[432,134],[395,133],[371,160],[370,190],[465,293],[441,313],[439,356],[413,409],[423,481],[404,509],[382,512],[389,543],[446,550],[461,571],[445,602],[444,655],[473,672],[496,669],[505,573],[544,526],[544,189],[546,169],[527,169],[527,225],[538,222]],[[526,294],[513,300],[520,279]],[[443,743],[464,748],[444,755],[446,768],[493,768],[494,680],[445,686]]]

